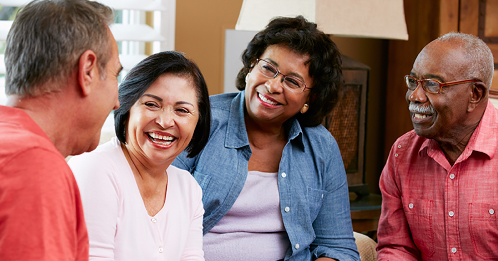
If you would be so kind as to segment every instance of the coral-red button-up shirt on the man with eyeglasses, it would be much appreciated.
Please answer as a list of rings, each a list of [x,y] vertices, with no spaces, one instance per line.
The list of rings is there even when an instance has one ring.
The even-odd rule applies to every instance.
[[[434,140],[401,136],[380,176],[377,259],[498,259],[497,150],[491,102],[453,166]]]

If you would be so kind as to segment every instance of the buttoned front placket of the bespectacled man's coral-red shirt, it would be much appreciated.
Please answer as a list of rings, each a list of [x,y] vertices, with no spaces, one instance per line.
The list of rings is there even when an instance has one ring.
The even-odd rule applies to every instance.
[[[458,164],[453,165],[447,172],[445,179],[444,209],[445,209],[445,231],[446,248],[448,260],[460,260],[460,237],[458,229]]]

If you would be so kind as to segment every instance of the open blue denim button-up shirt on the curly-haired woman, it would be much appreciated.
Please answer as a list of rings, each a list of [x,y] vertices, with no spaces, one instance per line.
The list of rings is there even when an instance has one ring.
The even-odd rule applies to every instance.
[[[182,152],[173,162],[189,171],[202,188],[204,234],[230,210],[248,174],[251,149],[244,93],[211,96],[206,147],[193,159]],[[359,261],[346,172],[336,141],[321,125],[301,128],[294,118],[285,124],[288,141],[278,169],[280,211],[291,243],[285,260]]]

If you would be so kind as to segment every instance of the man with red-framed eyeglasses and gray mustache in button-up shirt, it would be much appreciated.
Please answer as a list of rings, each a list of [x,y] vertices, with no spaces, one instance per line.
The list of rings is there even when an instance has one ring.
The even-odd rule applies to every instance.
[[[380,176],[379,261],[498,258],[493,72],[481,39],[449,33],[405,76],[414,130],[394,143]]]

